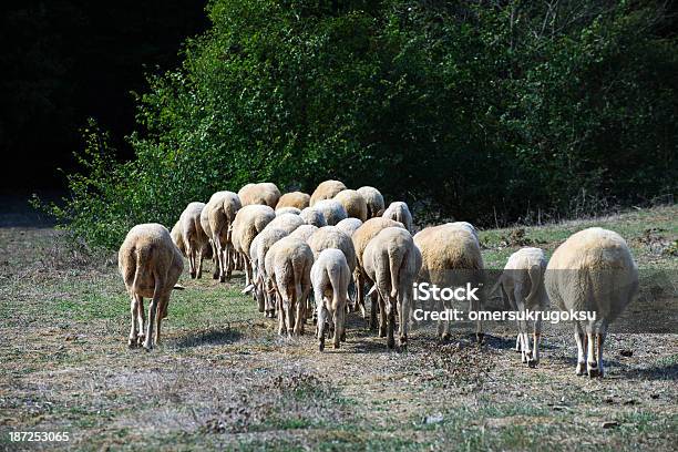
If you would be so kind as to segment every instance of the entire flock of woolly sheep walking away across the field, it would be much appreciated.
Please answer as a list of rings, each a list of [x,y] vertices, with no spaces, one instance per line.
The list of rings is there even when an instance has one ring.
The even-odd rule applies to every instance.
[[[188,204],[172,232],[143,224],[127,234],[119,267],[132,298],[129,345],[150,350],[158,342],[170,295],[182,288],[176,282],[186,257],[192,278],[201,277],[205,258],[212,258],[213,277],[220,281],[243,270],[243,292],[251,294],[266,317],[277,314],[280,335],[304,333],[307,320],[315,317],[319,349],[323,350],[328,329],[339,348],[346,340],[347,314],[360,311],[367,319],[369,298],[370,328],[378,327],[393,348],[398,325],[404,348],[413,284],[482,285],[484,268],[476,230],[469,223],[412,234],[407,204],[387,207],[373,187],[355,191],[326,181],[310,196],[281,195],[271,183],[247,184],[237,194],[217,192],[207,204]],[[575,321],[576,371],[589,377],[603,376],[607,327],[637,287],[638,271],[626,243],[602,228],[574,234],[548,263],[542,249],[516,251],[495,286],[513,310],[544,310],[551,299],[561,310],[595,311],[595,320]],[[152,300],[147,322],[144,297]],[[483,295],[472,302],[471,309],[482,309],[484,299]],[[451,308],[448,301],[444,308]],[[449,338],[450,321],[440,321],[438,332]],[[480,321],[476,336],[482,340]],[[526,321],[518,321],[516,350],[530,367],[538,362],[540,337],[541,320],[534,322],[532,346]]]

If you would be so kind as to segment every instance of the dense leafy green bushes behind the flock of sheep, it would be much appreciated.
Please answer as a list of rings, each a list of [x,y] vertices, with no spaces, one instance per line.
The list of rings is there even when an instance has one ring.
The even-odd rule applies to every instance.
[[[116,247],[255,181],[373,185],[479,224],[674,194],[678,43],[653,2],[215,0],[138,99],[136,157],[86,131],[56,217]],[[584,208],[587,205],[584,205]]]

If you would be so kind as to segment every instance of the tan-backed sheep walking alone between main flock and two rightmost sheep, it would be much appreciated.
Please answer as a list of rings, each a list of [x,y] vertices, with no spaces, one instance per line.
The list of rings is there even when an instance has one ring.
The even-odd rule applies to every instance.
[[[462,287],[471,284],[482,287],[484,282],[483,258],[477,238],[464,226],[448,223],[428,227],[414,236],[414,244],[422,255],[419,273],[420,282],[430,282],[443,288]],[[471,310],[480,310],[484,294],[477,291],[479,300],[470,300]],[[445,309],[452,309],[452,301],[445,300]],[[443,339],[450,338],[450,320],[440,320],[438,333]],[[477,341],[483,339],[482,322],[476,321]]]

